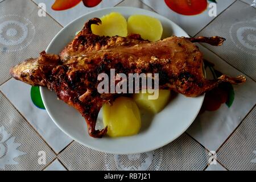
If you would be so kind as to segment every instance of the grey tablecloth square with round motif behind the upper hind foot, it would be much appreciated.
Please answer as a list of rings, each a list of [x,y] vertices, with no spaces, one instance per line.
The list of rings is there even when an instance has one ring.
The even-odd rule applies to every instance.
[[[236,14],[236,12],[239,13]],[[224,44],[224,47],[211,47],[208,44],[205,44],[204,47],[216,52],[218,57],[232,67],[236,67],[238,71],[246,73],[246,76],[250,75],[248,77],[255,82],[256,75],[253,69],[255,67],[255,51],[251,47],[253,44],[247,42],[250,41],[250,31],[255,29],[255,21],[252,19],[255,18],[255,9],[243,1],[236,1],[223,13],[197,35],[210,36],[217,32],[220,36],[230,39]]]

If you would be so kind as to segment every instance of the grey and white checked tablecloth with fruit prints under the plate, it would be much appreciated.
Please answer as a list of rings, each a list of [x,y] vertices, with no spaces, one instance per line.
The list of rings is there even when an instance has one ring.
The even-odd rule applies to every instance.
[[[53,0],[0,0],[0,170],[256,170],[253,0],[208,1],[207,10],[192,16],[176,13],[167,6],[171,2],[103,0],[92,8],[80,2],[72,9],[55,11],[51,8]],[[201,6],[205,2],[201,1]],[[208,75],[245,75],[246,84],[228,85],[228,91],[218,88],[209,93],[204,110],[192,126],[158,150],[111,155],[82,146],[51,121],[38,100],[38,88],[14,80],[9,69],[27,57],[38,56],[73,19],[111,6],[155,11],[179,24],[191,36],[226,38],[221,47],[200,46],[205,59],[214,63],[214,67],[207,68]],[[226,104],[221,105],[223,99]]]

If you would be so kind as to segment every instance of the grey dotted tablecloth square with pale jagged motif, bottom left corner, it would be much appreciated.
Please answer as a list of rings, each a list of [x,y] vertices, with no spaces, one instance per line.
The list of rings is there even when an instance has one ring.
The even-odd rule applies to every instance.
[[[0,102],[5,106],[1,108],[2,112],[0,115],[2,121],[0,121],[0,125],[3,126],[4,131],[10,134],[10,136],[7,136],[9,138],[7,140],[13,140],[11,143],[14,144],[7,144],[6,142],[7,150],[4,148],[6,152],[2,158],[5,166],[0,168],[0,171],[2,171],[2,169],[11,171],[42,169],[46,164],[51,162],[56,155],[47,144],[43,142],[42,138],[34,132],[32,127],[28,125],[22,115],[20,115],[1,92]],[[44,151],[45,154],[47,154],[46,164],[38,163],[39,151]],[[7,157],[7,160],[5,160],[5,157]],[[14,162],[11,162],[12,160],[14,160]]]

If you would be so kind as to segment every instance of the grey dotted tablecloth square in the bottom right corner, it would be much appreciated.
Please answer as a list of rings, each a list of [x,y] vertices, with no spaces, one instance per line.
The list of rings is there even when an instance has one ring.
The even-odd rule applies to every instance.
[[[218,152],[218,159],[222,160],[230,171],[255,171],[255,121],[256,107],[236,130],[228,142]]]

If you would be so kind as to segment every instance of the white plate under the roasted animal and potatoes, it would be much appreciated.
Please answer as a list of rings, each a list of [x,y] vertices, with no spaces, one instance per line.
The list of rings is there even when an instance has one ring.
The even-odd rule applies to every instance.
[[[134,7],[113,7],[93,11],[69,23],[55,36],[46,51],[59,54],[72,41],[75,33],[81,30],[86,20],[94,17],[100,18],[113,11],[123,14],[126,18],[134,14],[158,18],[163,24],[163,38],[172,35],[188,37],[188,34],[177,24],[159,14]],[[188,129],[199,113],[204,100],[204,96],[187,98],[178,94],[163,111],[156,114],[151,121],[147,121],[150,123],[143,123],[146,127],[142,128],[138,135],[95,139],[89,137],[85,119],[78,111],[63,101],[57,100],[56,94],[47,88],[41,87],[40,92],[49,116],[65,134],[86,147],[110,154],[138,154],[155,150],[172,142]],[[98,119],[100,118],[102,118],[101,113]]]

